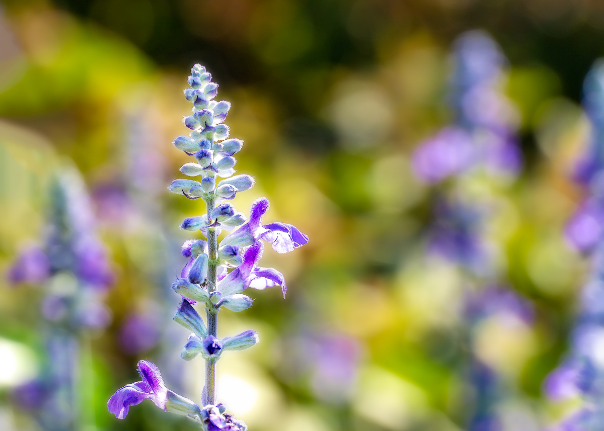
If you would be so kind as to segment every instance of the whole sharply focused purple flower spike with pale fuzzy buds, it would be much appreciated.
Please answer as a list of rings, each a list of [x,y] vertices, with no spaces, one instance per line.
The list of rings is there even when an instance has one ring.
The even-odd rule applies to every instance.
[[[205,431],[246,430],[245,424],[225,414],[222,404],[216,404],[216,362],[225,351],[249,348],[259,337],[254,331],[245,331],[220,339],[216,331],[217,314],[222,307],[233,311],[249,308],[252,299],[242,293],[248,287],[281,286],[285,296],[287,286],[283,274],[258,266],[262,241],[271,243],[279,253],[287,253],[306,244],[308,237],[286,223],[261,225],[269,208],[266,198],[252,204],[249,219],[228,202],[254,185],[251,176],[234,175],[236,159],[233,156],[241,150],[243,141],[227,139],[230,129],[223,122],[231,104],[213,100],[218,86],[211,82],[211,75],[201,65],[193,66],[188,84],[185,98],[193,103],[193,114],[183,121],[191,132],[176,138],[173,145],[196,159],[183,165],[181,172],[200,180],[176,179],[169,190],[188,199],[204,200],[206,214],[188,217],[181,228],[201,231],[206,239],[190,240],[182,246],[182,255],[188,261],[172,284],[172,290],[182,296],[173,319],[191,331],[182,359],[193,360],[198,355],[205,359],[203,407],[166,389],[158,369],[144,361],[139,363],[143,380],[115,392],[108,407],[116,417],[123,419],[130,406],[150,399],[161,409],[188,415]],[[217,237],[222,231],[233,232],[219,243]],[[207,323],[194,305],[205,308]]]

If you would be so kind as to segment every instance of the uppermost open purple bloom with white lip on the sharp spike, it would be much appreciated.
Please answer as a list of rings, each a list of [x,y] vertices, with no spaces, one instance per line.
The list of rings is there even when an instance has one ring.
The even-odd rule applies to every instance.
[[[254,244],[259,238],[272,243],[277,253],[288,253],[308,243],[308,237],[298,228],[287,223],[269,223],[260,225],[262,217],[268,211],[270,203],[266,197],[256,199],[249,210],[249,220],[239,229],[227,235],[220,246],[231,244],[245,247]]]

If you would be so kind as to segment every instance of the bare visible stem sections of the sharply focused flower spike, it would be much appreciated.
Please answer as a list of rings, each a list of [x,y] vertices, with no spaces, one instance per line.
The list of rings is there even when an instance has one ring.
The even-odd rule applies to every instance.
[[[210,213],[214,209],[214,196],[207,200],[208,223],[210,223]],[[208,257],[210,264],[208,265],[208,291],[216,290],[216,258],[217,258],[218,243],[216,240],[216,231],[214,228],[208,228]],[[217,336],[217,310],[207,310],[208,318],[208,335]],[[216,405],[216,359],[207,359],[205,361],[205,391],[204,391],[204,406],[208,404]]]

